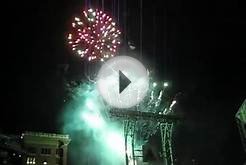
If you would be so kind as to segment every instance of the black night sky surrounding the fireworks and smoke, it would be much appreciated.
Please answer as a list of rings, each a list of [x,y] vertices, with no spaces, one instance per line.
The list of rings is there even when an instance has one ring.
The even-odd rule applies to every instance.
[[[112,2],[105,0],[109,13]],[[83,4],[43,0],[2,5],[0,132],[61,131],[64,79],[83,74],[65,34]],[[139,2],[128,0],[126,6],[121,1],[119,24],[138,52]],[[173,93],[182,92],[178,107],[185,120],[178,128],[176,153],[184,165],[192,158],[204,165],[243,164],[234,116],[246,99],[245,11],[235,0],[143,0],[143,57],[160,79],[171,82]],[[68,73],[60,64],[69,64]]]

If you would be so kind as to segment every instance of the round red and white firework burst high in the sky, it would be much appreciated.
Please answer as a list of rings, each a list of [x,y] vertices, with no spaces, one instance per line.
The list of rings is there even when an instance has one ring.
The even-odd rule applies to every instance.
[[[115,56],[120,45],[120,30],[107,14],[88,9],[81,17],[75,17],[68,43],[80,57],[104,61]]]

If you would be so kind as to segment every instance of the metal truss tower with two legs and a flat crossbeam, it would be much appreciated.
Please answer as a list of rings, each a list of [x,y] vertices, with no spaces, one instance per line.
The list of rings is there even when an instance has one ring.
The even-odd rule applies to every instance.
[[[109,113],[112,118],[123,120],[126,165],[137,165],[137,158],[143,157],[143,154],[141,153],[142,150],[135,148],[134,138],[136,123],[140,120],[154,121],[158,123],[161,132],[162,156],[164,165],[173,165],[172,131],[174,123],[180,119],[179,116],[119,109],[113,109]],[[130,143],[128,143],[129,140]],[[129,152],[131,152],[131,154],[129,154]]]

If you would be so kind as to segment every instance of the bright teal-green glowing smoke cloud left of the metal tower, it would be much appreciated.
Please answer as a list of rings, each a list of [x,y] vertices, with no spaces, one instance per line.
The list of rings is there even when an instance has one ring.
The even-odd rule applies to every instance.
[[[63,131],[72,138],[69,148],[72,164],[124,164],[122,124],[109,120],[108,107],[95,84],[69,85],[68,90]]]

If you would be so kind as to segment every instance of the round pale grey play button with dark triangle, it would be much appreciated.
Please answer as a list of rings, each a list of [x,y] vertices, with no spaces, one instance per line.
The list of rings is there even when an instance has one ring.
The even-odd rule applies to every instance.
[[[130,108],[145,97],[149,87],[147,70],[129,56],[117,56],[103,64],[97,75],[97,88],[112,107]]]

